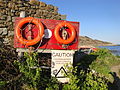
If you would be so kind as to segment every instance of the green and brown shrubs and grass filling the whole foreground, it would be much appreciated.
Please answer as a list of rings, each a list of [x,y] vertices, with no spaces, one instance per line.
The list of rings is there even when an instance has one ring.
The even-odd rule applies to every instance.
[[[110,87],[110,67],[120,63],[118,56],[112,55],[107,49],[99,49],[80,58],[79,65],[73,67],[66,64],[69,82],[61,84],[50,76],[50,70],[39,66],[36,52],[25,53],[22,59],[17,59],[15,52],[7,53],[4,49],[0,49],[0,52],[0,89],[107,90]]]

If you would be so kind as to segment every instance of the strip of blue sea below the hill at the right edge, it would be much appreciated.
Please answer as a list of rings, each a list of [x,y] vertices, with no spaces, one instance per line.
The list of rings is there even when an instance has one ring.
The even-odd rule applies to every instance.
[[[99,48],[107,48],[107,49],[109,49],[114,55],[120,56],[120,46],[99,46]]]

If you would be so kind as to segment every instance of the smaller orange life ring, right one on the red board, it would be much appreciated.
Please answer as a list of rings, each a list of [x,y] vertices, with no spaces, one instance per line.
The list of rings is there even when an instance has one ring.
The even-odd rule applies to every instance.
[[[68,39],[64,40],[61,38],[60,34],[59,34],[59,31],[62,27],[68,27],[70,32],[71,32],[71,35],[69,36]],[[59,23],[56,27],[55,27],[55,30],[54,30],[54,36],[56,38],[56,40],[59,42],[59,43],[62,43],[62,44],[69,44],[71,43],[75,37],[76,37],[76,31],[75,31],[75,28],[68,22],[61,22]]]

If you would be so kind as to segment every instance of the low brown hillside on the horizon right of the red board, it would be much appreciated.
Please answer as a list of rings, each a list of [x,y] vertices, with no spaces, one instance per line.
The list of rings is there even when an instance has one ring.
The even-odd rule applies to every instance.
[[[111,46],[114,45],[111,42],[105,42],[105,41],[100,41],[100,40],[94,40],[90,37],[87,36],[80,36],[79,37],[79,46],[83,45],[91,45],[91,46]]]

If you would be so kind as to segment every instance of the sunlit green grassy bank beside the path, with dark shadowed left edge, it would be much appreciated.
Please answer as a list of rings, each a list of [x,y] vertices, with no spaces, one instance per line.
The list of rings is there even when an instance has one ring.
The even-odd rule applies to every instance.
[[[109,74],[110,69],[120,64],[120,58],[114,56],[108,49],[99,49],[97,52],[85,55],[80,63],[110,79],[112,77]]]

